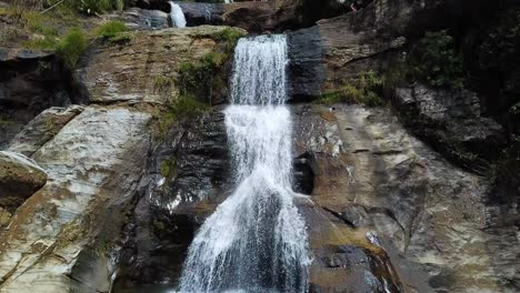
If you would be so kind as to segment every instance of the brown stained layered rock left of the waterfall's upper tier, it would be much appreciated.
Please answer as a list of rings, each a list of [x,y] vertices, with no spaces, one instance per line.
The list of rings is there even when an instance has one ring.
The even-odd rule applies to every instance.
[[[182,62],[193,62],[216,49],[212,34],[226,27],[133,32],[121,46],[101,43],[90,52],[88,64],[77,71],[91,103],[120,101],[164,104],[171,97],[158,90],[159,80],[173,83]]]

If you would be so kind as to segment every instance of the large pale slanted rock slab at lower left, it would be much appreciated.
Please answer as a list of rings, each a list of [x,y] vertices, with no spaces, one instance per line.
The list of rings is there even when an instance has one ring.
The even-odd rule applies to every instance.
[[[146,162],[149,120],[88,107],[38,148],[31,158],[48,183],[0,232],[0,292],[109,290],[109,252]]]

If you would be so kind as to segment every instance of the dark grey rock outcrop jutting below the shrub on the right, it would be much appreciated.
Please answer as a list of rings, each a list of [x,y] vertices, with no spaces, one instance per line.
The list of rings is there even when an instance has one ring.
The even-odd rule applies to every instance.
[[[483,172],[482,160],[499,155],[498,146],[504,140],[502,128],[481,117],[476,93],[412,84],[397,89],[394,101],[414,133],[467,168]]]

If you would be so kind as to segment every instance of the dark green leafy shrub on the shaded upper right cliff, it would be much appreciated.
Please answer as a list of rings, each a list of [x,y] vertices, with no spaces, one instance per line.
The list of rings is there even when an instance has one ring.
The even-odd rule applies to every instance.
[[[433,87],[463,88],[462,57],[446,30],[427,32],[413,52],[413,74]]]

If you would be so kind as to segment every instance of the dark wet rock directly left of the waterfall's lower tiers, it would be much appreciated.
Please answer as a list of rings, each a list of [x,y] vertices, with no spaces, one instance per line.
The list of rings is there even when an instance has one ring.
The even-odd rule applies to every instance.
[[[170,284],[196,230],[230,191],[230,159],[220,109],[176,125],[148,165],[142,198],[116,287]]]

